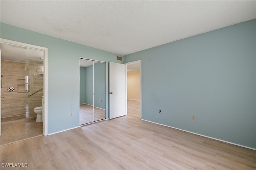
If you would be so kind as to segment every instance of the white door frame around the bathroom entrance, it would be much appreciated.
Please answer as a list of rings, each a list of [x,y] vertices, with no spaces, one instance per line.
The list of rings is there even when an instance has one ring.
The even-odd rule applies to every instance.
[[[3,38],[0,39],[0,42],[44,51],[44,108],[43,108],[44,109],[44,123],[43,123],[44,131],[43,131],[43,134],[44,136],[48,135],[48,48],[40,47],[37,45],[28,44],[28,43],[6,40]],[[0,121],[1,121],[1,118],[0,118]]]

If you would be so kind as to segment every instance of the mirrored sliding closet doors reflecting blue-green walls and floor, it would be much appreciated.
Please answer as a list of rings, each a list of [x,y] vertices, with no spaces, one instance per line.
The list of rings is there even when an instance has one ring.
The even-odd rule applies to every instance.
[[[80,58],[80,125],[105,119],[106,63]]]

